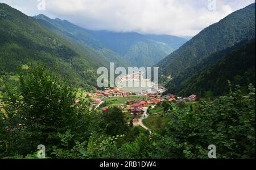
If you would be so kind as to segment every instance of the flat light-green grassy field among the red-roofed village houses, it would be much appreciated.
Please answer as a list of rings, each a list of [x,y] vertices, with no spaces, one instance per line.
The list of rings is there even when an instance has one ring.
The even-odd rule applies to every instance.
[[[122,105],[125,104],[128,100],[133,101],[133,100],[145,100],[146,97],[112,97],[112,98],[106,98],[104,99],[105,102],[109,102],[110,104],[108,106],[112,107],[112,106],[118,106],[118,105]]]

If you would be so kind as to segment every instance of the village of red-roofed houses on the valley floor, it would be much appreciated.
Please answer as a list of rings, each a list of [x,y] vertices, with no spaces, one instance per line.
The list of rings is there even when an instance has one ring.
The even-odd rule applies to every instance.
[[[130,79],[129,79],[130,77]],[[137,78],[138,81],[143,80],[141,77],[126,76],[121,78],[121,82],[130,81]],[[154,83],[151,88],[155,88]],[[151,133],[150,128],[144,125],[144,121],[152,115],[163,114],[162,104],[164,102],[185,102],[192,103],[196,101],[196,95],[192,94],[189,97],[178,97],[174,94],[163,94],[166,88],[158,86],[156,90],[140,90],[127,91],[125,88],[114,87],[96,90],[95,93],[86,93],[85,96],[92,101],[91,108],[101,110],[103,113],[109,111],[111,107],[120,108],[126,115],[127,123],[133,123],[134,126],[141,126]],[[76,103],[80,101],[76,99]],[[153,117],[153,116],[152,116]]]

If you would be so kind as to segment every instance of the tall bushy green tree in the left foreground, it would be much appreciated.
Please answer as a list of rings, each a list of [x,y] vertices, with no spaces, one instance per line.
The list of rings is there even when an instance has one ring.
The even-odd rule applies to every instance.
[[[71,130],[79,135],[79,131],[86,131],[82,125],[85,122],[81,121],[89,114],[88,106],[82,101],[75,105],[75,88],[48,72],[44,64],[20,72],[19,82],[19,90],[8,91],[6,109],[18,119],[16,125],[22,125],[17,132],[26,138],[23,142],[29,146],[26,152],[35,150],[39,144],[48,148],[57,144],[58,132]]]

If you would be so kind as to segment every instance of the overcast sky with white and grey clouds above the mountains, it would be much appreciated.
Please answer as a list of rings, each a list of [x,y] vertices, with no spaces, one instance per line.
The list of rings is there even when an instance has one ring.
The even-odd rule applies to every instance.
[[[46,9],[43,10],[43,3]],[[193,36],[255,0],[0,0],[91,30]],[[214,3],[216,2],[216,3]],[[38,7],[39,6],[39,7]]]

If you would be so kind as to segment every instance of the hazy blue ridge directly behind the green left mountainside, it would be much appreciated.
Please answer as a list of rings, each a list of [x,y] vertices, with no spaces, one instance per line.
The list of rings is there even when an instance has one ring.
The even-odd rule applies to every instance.
[[[50,19],[47,16],[40,14],[34,16],[38,22],[42,23],[49,30],[55,32],[57,35],[65,38],[68,42],[72,42],[80,49],[92,48],[98,55],[105,57],[111,62],[114,62],[118,67],[126,66],[127,63],[115,52],[107,48],[105,45],[94,39],[86,30],[59,18]]]

